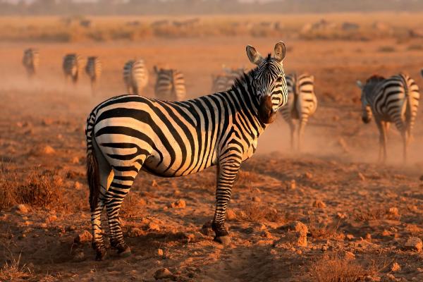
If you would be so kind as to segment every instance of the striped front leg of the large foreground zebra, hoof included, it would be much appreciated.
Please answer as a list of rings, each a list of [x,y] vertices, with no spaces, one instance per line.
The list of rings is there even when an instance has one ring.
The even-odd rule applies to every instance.
[[[225,228],[226,206],[231,200],[232,185],[240,168],[240,161],[223,163],[217,169],[216,183],[216,210],[212,229],[215,233],[214,240],[223,245],[231,243],[229,233]]]

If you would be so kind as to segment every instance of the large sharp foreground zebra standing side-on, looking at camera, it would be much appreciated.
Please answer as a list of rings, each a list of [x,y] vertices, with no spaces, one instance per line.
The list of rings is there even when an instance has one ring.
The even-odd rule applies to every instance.
[[[240,164],[255,152],[259,135],[287,101],[285,44],[278,42],[274,53],[262,57],[247,46],[247,56],[257,68],[226,92],[183,102],[123,95],[92,110],[85,133],[92,246],[97,259],[106,255],[100,221],[104,206],[111,246],[122,256],[130,255],[118,213],[140,170],[176,177],[217,166],[212,229],[214,240],[230,241],[225,212]]]

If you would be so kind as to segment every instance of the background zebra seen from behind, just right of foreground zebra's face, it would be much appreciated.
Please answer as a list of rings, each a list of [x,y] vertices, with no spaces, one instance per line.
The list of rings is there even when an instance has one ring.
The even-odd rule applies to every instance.
[[[288,103],[281,109],[283,119],[290,127],[290,145],[294,148],[294,119],[298,119],[298,150],[301,149],[302,135],[309,116],[317,109],[317,97],[314,94],[314,76],[302,74],[286,75],[288,85]]]

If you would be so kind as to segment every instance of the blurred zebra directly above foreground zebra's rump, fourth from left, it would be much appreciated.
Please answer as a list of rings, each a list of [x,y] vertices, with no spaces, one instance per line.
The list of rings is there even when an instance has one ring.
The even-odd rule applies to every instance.
[[[123,81],[129,94],[141,94],[148,83],[148,71],[144,60],[130,60],[123,66]]]

